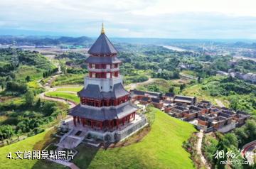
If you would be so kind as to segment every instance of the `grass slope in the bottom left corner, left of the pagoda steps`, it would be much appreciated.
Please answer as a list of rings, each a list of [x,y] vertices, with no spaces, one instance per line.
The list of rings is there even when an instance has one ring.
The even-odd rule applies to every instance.
[[[55,163],[47,163],[44,160],[27,160],[27,159],[9,159],[6,158],[7,154],[11,152],[12,156],[16,158],[16,151],[33,151],[33,150],[43,150],[48,143],[54,142],[55,138],[52,138],[51,133],[55,132],[55,130],[51,129],[48,131],[44,131],[43,133],[39,133],[36,136],[32,136],[26,138],[23,141],[19,141],[17,143],[13,143],[9,146],[4,146],[0,148],[0,163],[1,169],[7,168],[63,168],[63,165],[58,165]]]

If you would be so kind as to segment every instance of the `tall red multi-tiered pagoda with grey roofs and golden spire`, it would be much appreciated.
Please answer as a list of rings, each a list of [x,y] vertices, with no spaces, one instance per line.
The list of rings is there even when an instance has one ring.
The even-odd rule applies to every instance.
[[[90,129],[110,131],[135,119],[137,107],[129,102],[129,92],[124,89],[117,58],[117,49],[102,31],[88,50],[85,60],[89,75],[78,92],[80,104],[70,109],[73,124]]]

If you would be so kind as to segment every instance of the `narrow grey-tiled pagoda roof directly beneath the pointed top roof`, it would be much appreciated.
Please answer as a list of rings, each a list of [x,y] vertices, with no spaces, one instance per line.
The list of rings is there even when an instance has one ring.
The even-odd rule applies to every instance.
[[[117,57],[99,57],[99,56],[89,56],[85,62],[92,63],[92,64],[113,64],[113,63],[119,63],[121,60],[119,60]]]

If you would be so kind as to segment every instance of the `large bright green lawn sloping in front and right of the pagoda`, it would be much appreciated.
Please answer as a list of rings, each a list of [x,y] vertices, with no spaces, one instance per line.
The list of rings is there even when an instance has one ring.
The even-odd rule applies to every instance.
[[[153,111],[156,119],[142,141],[106,151],[80,145],[73,163],[80,168],[194,168],[182,143],[196,129],[159,109]]]

